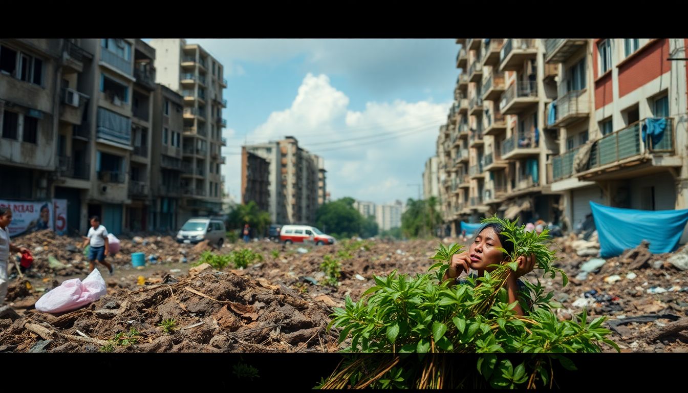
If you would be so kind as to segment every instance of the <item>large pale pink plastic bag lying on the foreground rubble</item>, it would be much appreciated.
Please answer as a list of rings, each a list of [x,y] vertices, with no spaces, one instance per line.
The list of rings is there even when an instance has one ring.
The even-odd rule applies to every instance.
[[[100,299],[106,293],[105,280],[98,269],[94,269],[83,282],[78,278],[68,279],[43,295],[36,301],[36,310],[52,314],[76,310]]]

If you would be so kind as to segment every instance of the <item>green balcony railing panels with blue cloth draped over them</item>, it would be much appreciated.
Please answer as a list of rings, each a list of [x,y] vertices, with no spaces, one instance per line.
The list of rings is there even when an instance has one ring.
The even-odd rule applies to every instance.
[[[601,167],[645,153],[674,153],[674,119],[653,118],[652,126],[657,127],[657,120],[664,119],[665,128],[660,138],[643,133],[648,125],[648,118],[637,121],[619,131],[596,140],[590,151],[588,168]],[[647,134],[647,135],[643,135]]]

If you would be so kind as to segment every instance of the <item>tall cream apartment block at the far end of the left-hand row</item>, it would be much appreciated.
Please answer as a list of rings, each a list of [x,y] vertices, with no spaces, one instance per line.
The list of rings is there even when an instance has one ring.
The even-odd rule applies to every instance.
[[[224,189],[220,166],[226,162],[220,149],[227,143],[222,137],[227,125],[222,118],[224,67],[202,46],[184,39],[153,39],[151,46],[157,51],[155,81],[184,97],[180,219],[217,214]]]

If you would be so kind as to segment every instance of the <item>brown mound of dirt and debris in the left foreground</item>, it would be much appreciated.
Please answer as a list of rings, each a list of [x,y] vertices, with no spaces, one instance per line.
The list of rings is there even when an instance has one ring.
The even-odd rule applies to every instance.
[[[204,265],[63,315],[0,314],[0,352],[333,352],[331,313],[286,286]]]

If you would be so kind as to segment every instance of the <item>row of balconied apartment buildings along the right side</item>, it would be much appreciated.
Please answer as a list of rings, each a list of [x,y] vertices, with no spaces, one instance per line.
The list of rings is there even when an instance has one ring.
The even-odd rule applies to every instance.
[[[456,43],[455,103],[438,137],[452,234],[493,214],[572,229],[590,200],[687,206],[685,61],[667,60],[685,57],[684,39]]]

